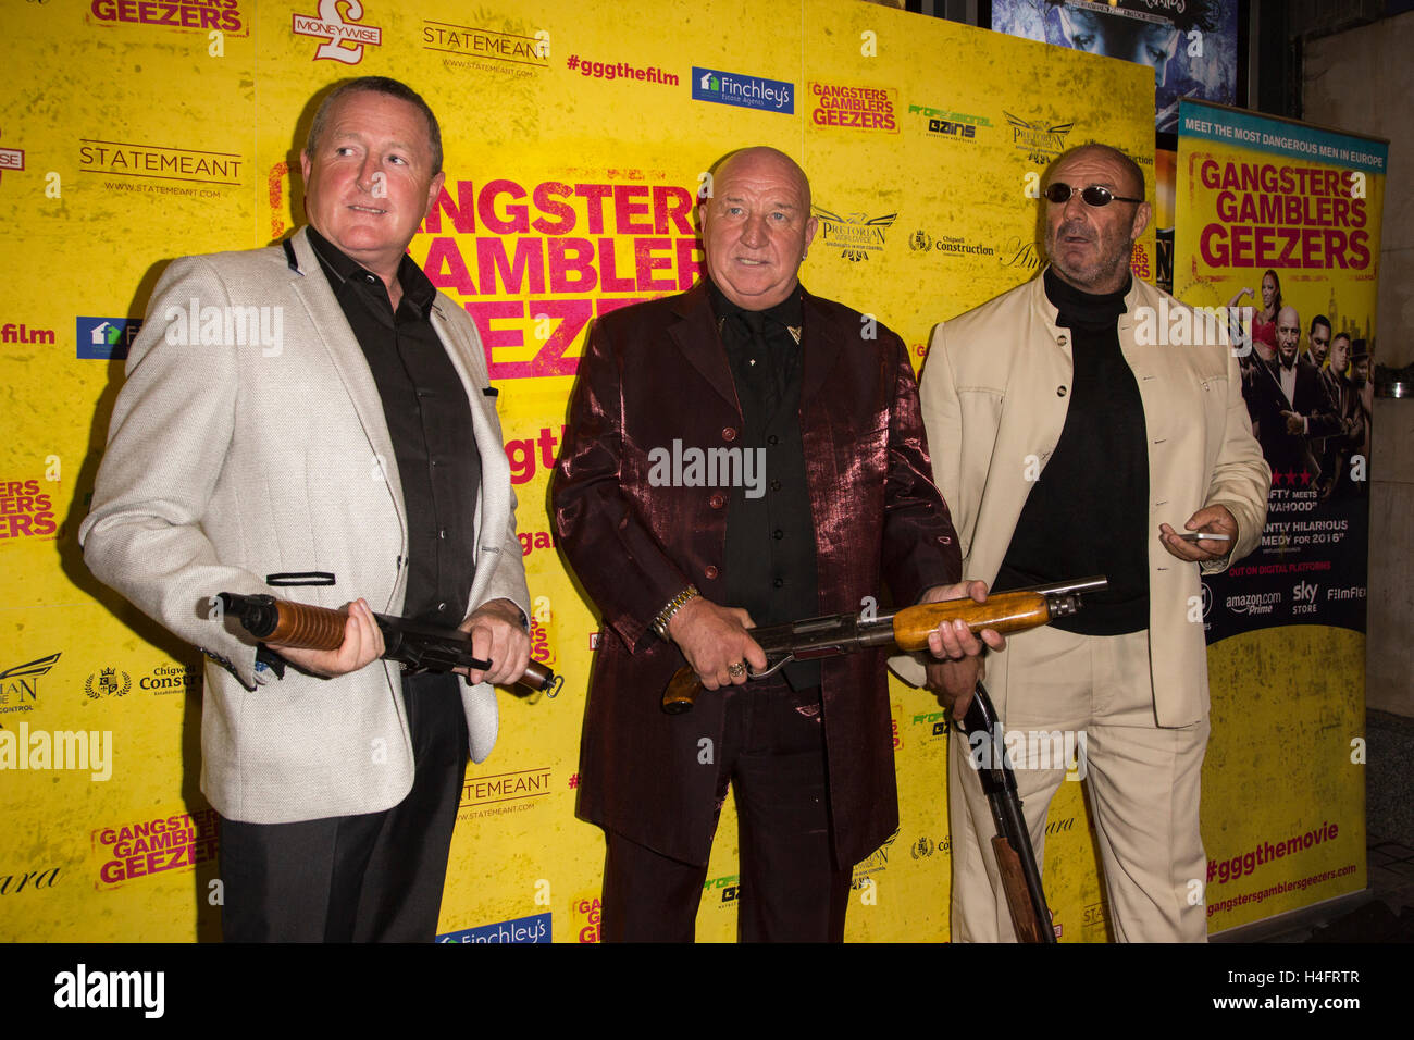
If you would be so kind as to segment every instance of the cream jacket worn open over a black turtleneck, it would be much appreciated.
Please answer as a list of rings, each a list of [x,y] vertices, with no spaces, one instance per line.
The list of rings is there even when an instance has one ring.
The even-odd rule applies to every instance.
[[[1226,505],[1237,521],[1237,543],[1227,559],[1202,565],[1203,573],[1222,572],[1261,541],[1271,473],[1251,436],[1229,347],[1135,341],[1135,308],[1158,308],[1164,297],[1135,279],[1118,334],[1148,440],[1154,706],[1159,726],[1186,726],[1208,712],[1199,565],[1171,556],[1158,525],[1182,531],[1202,507]],[[1172,297],[1167,306],[1169,313],[1182,307]],[[1069,330],[1056,325],[1039,275],[933,333],[921,391],[923,423],[933,474],[962,539],[966,577],[995,580],[1035,474],[1060,439],[1072,374]],[[1005,652],[987,664],[988,676],[1001,679],[988,681],[988,692],[1003,713],[1004,661]],[[895,669],[922,682],[916,659],[895,658]]]

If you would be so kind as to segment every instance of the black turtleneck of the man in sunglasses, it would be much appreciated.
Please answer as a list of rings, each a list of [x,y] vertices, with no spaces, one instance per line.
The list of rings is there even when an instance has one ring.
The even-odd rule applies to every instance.
[[[1070,330],[1075,371],[1060,440],[1017,521],[998,590],[1104,574],[1110,587],[1052,621],[1083,635],[1148,627],[1148,447],[1138,383],[1117,323],[1130,290],[1094,296],[1048,267],[1046,299]],[[1157,535],[1155,535],[1157,536]]]

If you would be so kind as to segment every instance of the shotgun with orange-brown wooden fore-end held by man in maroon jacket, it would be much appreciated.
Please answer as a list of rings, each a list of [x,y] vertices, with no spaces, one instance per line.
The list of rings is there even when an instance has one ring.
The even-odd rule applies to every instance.
[[[942,603],[921,603],[916,607],[880,618],[860,620],[857,614],[834,614],[809,621],[752,628],[751,638],[766,655],[766,669],[752,674],[764,679],[790,661],[854,654],[868,647],[895,645],[899,649],[928,649],[928,634],[939,624],[962,620],[970,631],[991,628],[1003,635],[1044,625],[1056,617],[1069,617],[1080,608],[1080,594],[1097,591],[1109,584],[1104,577],[1079,582],[1038,584],[1031,589],[988,596],[986,603],[967,597]],[[669,715],[690,712],[703,685],[690,666],[679,668],[663,693],[663,710]]]

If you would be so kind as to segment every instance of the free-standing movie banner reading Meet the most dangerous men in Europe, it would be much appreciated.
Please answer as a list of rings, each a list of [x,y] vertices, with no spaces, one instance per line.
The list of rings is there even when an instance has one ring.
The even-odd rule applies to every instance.
[[[1387,141],[1185,100],[1159,342],[1225,337],[1271,466],[1260,548],[1203,582],[1209,930],[1365,887],[1370,369]],[[1192,338],[1188,338],[1192,337]],[[1281,791],[1280,798],[1273,792]]]

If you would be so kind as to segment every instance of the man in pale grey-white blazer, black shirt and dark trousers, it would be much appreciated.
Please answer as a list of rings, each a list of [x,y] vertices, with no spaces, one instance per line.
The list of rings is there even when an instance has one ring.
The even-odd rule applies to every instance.
[[[307,228],[158,282],[79,539],[209,658],[226,940],[427,941],[492,683],[529,657],[515,497],[475,325],[406,256],[443,184],[431,110],[348,81],[301,168]],[[344,644],[257,647],[219,591],[352,600]],[[460,696],[404,674],[370,610],[460,625],[491,668]]]

